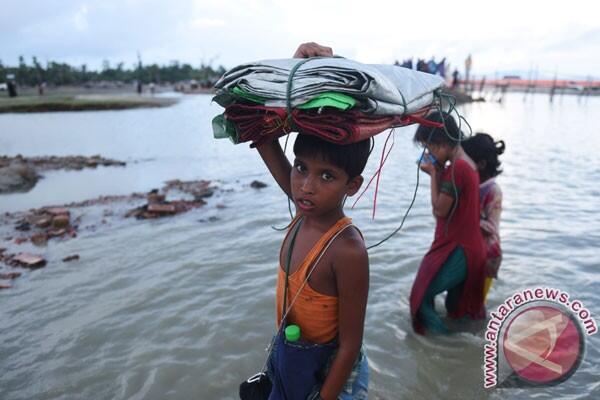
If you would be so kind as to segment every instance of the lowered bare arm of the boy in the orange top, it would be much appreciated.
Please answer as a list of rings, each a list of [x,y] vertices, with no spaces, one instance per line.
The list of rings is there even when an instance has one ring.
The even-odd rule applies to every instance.
[[[362,345],[367,298],[369,259],[358,232],[340,241],[334,271],[338,290],[339,348],[321,387],[324,400],[337,399],[348,380]]]

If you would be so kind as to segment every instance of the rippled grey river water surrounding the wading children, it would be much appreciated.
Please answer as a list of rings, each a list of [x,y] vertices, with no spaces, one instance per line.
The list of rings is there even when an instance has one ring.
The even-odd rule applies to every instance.
[[[518,290],[551,286],[598,318],[600,98],[550,103],[547,95],[524,101],[509,94],[503,104],[460,109],[475,130],[507,145],[498,178],[504,261],[489,310]],[[210,121],[219,111],[199,95],[165,109],[0,115],[3,154],[101,154],[128,162],[46,173],[30,192],[1,196],[2,212],[147,191],[174,178],[228,188],[172,218],[84,230],[41,249],[22,245],[49,263],[0,292],[1,399],[235,399],[240,381],[257,372],[275,326],[283,236],[271,226],[285,225],[289,215],[258,155],[212,138]],[[395,229],[410,203],[418,156],[413,132],[394,134],[375,220],[372,191],[347,207],[367,244]],[[579,370],[559,386],[484,390],[481,327],[450,337],[413,334],[408,295],[434,229],[428,178],[421,178],[403,230],[369,254],[370,397],[600,398],[598,335],[587,338]],[[269,186],[251,189],[254,179]],[[1,247],[19,250],[2,240]],[[74,253],[79,261],[60,262]]]

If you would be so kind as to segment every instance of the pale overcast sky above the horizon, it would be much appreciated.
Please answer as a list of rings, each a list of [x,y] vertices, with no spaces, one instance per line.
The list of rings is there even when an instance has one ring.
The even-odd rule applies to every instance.
[[[290,57],[316,41],[367,63],[446,56],[475,74],[537,68],[600,79],[600,2],[2,0],[0,60],[130,66],[171,60],[227,68]]]

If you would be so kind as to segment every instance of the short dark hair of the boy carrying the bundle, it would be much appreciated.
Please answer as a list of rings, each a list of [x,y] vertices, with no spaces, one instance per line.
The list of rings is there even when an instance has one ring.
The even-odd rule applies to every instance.
[[[299,134],[294,142],[294,154],[301,157],[321,156],[343,169],[348,178],[362,174],[371,153],[371,140],[366,139],[351,144],[335,144],[313,135]]]

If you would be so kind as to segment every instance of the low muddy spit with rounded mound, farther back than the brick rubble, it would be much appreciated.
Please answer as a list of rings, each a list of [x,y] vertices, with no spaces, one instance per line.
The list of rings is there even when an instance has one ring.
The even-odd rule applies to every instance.
[[[123,161],[99,155],[66,157],[16,157],[0,156],[0,194],[27,192],[42,178],[40,172],[52,170],[82,170],[98,166],[125,166]]]

